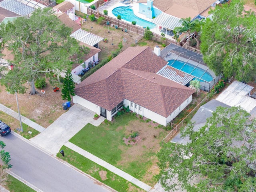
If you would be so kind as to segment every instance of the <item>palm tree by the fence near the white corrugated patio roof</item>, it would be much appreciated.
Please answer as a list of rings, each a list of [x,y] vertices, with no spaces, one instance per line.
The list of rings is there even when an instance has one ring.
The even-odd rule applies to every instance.
[[[178,42],[184,40],[184,38],[188,39],[186,40],[186,43],[184,44],[185,47],[187,47],[190,44],[190,36],[192,33],[194,32],[199,32],[201,29],[201,25],[202,22],[200,22],[198,19],[194,19],[193,21],[191,21],[191,18],[188,17],[186,19],[181,19],[180,20],[182,26],[181,27],[176,27],[174,28],[174,34],[175,33],[182,33],[179,37],[178,37]],[[199,41],[195,38],[197,44],[196,44],[196,48],[199,47]]]

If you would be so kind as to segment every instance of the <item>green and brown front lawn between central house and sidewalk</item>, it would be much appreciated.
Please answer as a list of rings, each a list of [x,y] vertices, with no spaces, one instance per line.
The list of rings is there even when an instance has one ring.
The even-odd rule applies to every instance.
[[[87,124],[70,142],[154,186],[157,180],[153,176],[158,174],[156,153],[168,132],[151,124],[152,121],[143,122],[135,114],[124,114],[111,124]],[[134,134],[139,138],[136,144],[124,144],[123,138]]]

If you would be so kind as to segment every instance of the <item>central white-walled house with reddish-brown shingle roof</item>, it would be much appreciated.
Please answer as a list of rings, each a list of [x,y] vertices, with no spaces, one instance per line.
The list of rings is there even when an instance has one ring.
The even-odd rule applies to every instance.
[[[157,51],[129,47],[75,88],[73,102],[108,120],[122,106],[166,126],[192,100],[194,90],[156,74],[166,66]]]

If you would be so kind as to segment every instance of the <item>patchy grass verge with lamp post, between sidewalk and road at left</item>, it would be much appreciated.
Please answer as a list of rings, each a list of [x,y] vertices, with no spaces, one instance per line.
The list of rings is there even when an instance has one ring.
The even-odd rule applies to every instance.
[[[19,132],[16,130],[16,128],[20,128],[20,121],[13,118],[12,116],[6,114],[5,112],[0,111],[1,120],[6,123],[8,126],[12,128],[12,131],[20,134],[26,139],[30,139],[38,134],[40,134],[39,131],[35,130],[34,128],[22,123],[23,132]],[[28,132],[31,131],[32,134],[29,134]]]

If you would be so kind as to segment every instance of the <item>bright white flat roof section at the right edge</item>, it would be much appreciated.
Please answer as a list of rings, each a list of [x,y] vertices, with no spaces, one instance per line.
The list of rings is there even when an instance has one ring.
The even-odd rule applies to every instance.
[[[256,99],[247,95],[252,89],[253,87],[250,85],[234,81],[216,98],[216,100],[229,106],[241,106],[250,113],[256,107]]]

